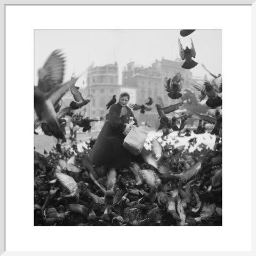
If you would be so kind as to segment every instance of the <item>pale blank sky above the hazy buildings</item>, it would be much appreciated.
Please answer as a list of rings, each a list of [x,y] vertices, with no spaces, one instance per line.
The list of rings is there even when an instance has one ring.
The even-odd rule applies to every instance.
[[[179,58],[179,38],[184,49],[186,46],[190,48],[190,38],[193,40],[194,60],[198,62],[190,69],[193,76],[203,78],[207,74],[201,63],[211,73],[222,74],[221,30],[196,30],[187,37],[181,37],[179,33],[180,30],[35,30],[34,83],[38,83],[38,69],[54,50],[61,49],[66,57],[64,82],[73,73],[84,73],[77,86],[86,86],[86,70],[90,65],[105,66],[117,61],[121,84],[122,71],[131,61],[148,67],[162,57],[168,60]]]

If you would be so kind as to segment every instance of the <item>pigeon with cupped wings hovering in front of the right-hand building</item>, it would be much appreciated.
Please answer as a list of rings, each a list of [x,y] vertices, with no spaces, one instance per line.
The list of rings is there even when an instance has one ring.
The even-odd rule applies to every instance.
[[[184,79],[181,77],[180,73],[177,73],[172,79],[171,78],[164,78],[164,86],[166,91],[169,92],[167,95],[171,99],[179,99],[182,94],[180,93],[182,86],[183,86]]]

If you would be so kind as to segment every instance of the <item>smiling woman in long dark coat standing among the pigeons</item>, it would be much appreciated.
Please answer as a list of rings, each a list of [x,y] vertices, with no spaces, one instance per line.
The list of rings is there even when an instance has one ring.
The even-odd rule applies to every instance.
[[[106,169],[111,167],[121,169],[133,161],[143,161],[140,156],[133,156],[123,147],[124,138],[131,129],[130,117],[133,117],[134,125],[138,126],[132,110],[127,107],[129,100],[130,95],[127,92],[121,93],[118,103],[110,107],[107,121],[100,131],[90,156],[93,165],[98,167],[104,165]]]

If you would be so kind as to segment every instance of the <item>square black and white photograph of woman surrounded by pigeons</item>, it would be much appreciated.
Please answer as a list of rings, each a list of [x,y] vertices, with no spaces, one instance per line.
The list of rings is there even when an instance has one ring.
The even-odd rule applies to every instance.
[[[34,30],[34,226],[222,226],[222,30]]]

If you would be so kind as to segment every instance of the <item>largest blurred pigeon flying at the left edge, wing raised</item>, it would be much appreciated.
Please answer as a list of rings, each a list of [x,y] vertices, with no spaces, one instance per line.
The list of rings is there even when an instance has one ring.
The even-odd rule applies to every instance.
[[[74,85],[78,78],[71,78],[62,85],[65,61],[59,50],[54,51],[44,67],[38,70],[38,85],[34,86],[34,108],[38,120],[47,123],[50,132],[57,139],[63,139],[54,105]]]

